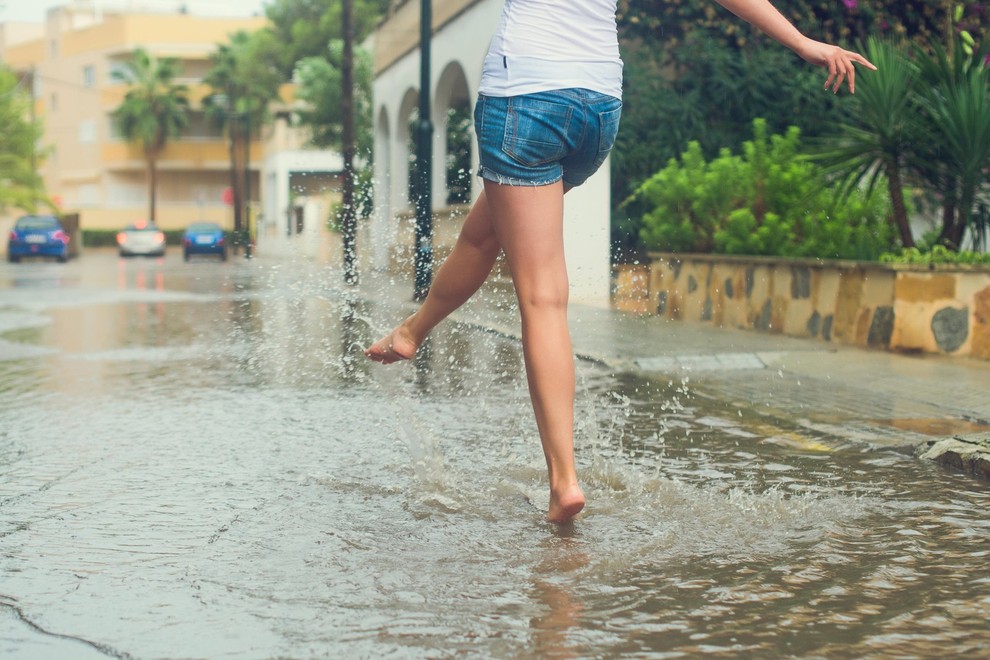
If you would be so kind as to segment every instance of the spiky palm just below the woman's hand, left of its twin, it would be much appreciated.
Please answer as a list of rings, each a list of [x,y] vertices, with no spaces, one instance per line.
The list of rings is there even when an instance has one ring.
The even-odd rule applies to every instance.
[[[867,57],[876,71],[856,82],[854,107],[815,158],[828,170],[842,172],[846,190],[865,183],[872,191],[881,176],[887,180],[893,224],[904,247],[913,247],[911,225],[904,202],[905,176],[914,164],[919,132],[914,65],[894,44],[871,37]]]

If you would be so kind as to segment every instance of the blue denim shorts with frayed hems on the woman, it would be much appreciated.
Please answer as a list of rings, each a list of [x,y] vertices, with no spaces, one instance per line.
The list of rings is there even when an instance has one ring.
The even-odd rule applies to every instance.
[[[579,186],[601,167],[619,131],[622,101],[587,89],[478,96],[478,176],[509,186],[561,179]]]

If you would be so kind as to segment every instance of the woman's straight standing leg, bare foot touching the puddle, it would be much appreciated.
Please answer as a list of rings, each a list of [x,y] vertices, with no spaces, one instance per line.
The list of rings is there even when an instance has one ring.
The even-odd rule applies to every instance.
[[[567,327],[564,187],[485,181],[495,233],[505,252],[522,315],[529,394],[547,460],[547,519],[565,522],[584,508],[574,466],[574,354]]]

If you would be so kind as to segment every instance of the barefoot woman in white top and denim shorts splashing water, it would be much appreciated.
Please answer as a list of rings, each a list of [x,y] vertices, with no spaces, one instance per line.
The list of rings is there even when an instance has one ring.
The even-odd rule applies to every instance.
[[[862,56],[813,41],[768,0],[718,0],[802,58],[825,87],[855,88]],[[365,350],[411,358],[440,321],[484,283],[504,251],[522,317],[530,398],[547,461],[547,519],[584,508],[574,467],[574,356],[567,327],[564,193],[604,162],[622,109],[616,0],[505,0],[485,57],[474,122],[484,190],[422,306]]]

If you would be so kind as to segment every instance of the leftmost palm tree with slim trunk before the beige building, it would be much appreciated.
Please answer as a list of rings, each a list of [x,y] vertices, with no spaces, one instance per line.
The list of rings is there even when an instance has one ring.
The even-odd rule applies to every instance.
[[[124,101],[113,111],[121,135],[137,142],[148,166],[148,220],[155,222],[158,158],[169,140],[178,138],[189,122],[189,98],[185,85],[176,84],[179,61],[157,58],[143,48],[134,51],[115,80],[130,86]]]

